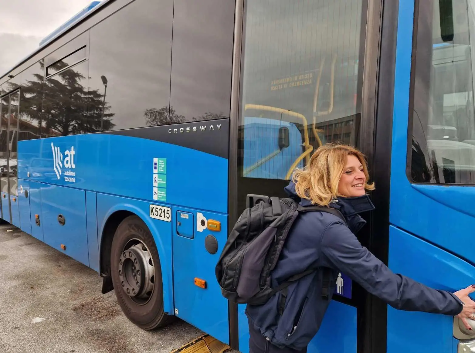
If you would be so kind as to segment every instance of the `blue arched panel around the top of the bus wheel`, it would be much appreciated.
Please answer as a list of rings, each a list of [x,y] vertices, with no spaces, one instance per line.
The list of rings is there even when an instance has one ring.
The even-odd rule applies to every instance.
[[[150,217],[150,205],[162,205],[155,201],[133,200],[120,196],[105,195],[97,193],[97,224],[99,228],[99,246],[102,241],[104,225],[107,219],[117,211],[130,211],[139,216],[152,233],[155,245],[160,257],[161,278],[163,284],[163,310],[169,315],[173,315],[173,283],[171,270],[171,222],[174,215],[171,215],[171,222]]]

